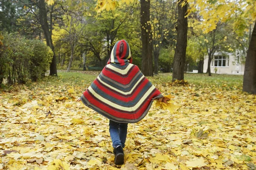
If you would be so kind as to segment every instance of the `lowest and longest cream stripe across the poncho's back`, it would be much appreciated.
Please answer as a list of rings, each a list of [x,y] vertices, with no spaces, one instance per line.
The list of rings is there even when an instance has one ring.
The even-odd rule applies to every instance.
[[[151,94],[152,91],[154,91],[155,87],[154,85],[151,86],[151,88],[148,89],[148,91],[144,94],[144,96],[140,99],[140,101],[132,108],[127,108],[121,105],[117,105],[116,103],[113,103],[107,99],[105,99],[104,97],[100,96],[99,94],[97,94],[91,87],[88,88],[88,90],[99,100],[101,100],[102,102],[105,102],[108,105],[113,106],[114,108],[123,110],[123,111],[135,111],[137,110],[137,108],[140,107],[141,103],[144,102],[144,100],[149,96],[149,94]]]

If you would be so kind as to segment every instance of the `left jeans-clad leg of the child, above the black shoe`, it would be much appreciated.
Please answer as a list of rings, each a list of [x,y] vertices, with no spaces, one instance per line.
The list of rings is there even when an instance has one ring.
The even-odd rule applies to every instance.
[[[119,145],[122,146],[119,137],[119,123],[109,120],[109,133],[112,140],[113,148],[116,148]]]

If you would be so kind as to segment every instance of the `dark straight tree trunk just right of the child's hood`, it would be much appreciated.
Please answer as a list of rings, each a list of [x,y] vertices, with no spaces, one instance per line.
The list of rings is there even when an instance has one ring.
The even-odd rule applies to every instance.
[[[140,1],[140,28],[142,41],[142,73],[153,76],[152,35],[150,21],[150,0]]]

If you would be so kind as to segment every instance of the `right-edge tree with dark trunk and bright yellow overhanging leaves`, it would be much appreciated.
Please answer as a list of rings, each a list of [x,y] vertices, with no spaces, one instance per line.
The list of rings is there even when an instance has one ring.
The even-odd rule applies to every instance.
[[[204,33],[208,33],[216,28],[218,21],[227,22],[235,17],[233,31],[242,34],[244,23],[247,18],[256,19],[256,1],[255,0],[188,0],[191,5],[189,11],[200,11],[203,17]],[[255,22],[256,25],[256,22]],[[253,28],[250,45],[247,51],[243,91],[256,94],[256,29]]]

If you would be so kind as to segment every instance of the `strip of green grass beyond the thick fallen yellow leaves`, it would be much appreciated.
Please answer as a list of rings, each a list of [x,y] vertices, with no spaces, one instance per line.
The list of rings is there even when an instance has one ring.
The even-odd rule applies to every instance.
[[[67,73],[66,71],[58,71],[58,77],[45,77],[38,82],[37,85],[49,83],[53,85],[68,84],[79,85],[82,87],[88,87],[91,82],[99,75],[100,71],[72,71]],[[148,79],[154,84],[172,84],[172,73],[160,73],[154,77],[148,77]],[[241,89],[243,84],[242,75],[227,75],[227,74],[212,74],[211,77],[208,74],[184,74],[185,81],[188,82],[190,86],[195,86],[197,88],[201,87],[214,87],[222,88],[223,90],[234,90]],[[27,84],[27,86],[33,86],[33,82]],[[4,87],[4,86],[2,86]],[[5,87],[5,89],[7,86]],[[9,87],[10,88],[10,87]],[[12,88],[12,87],[11,87]]]

